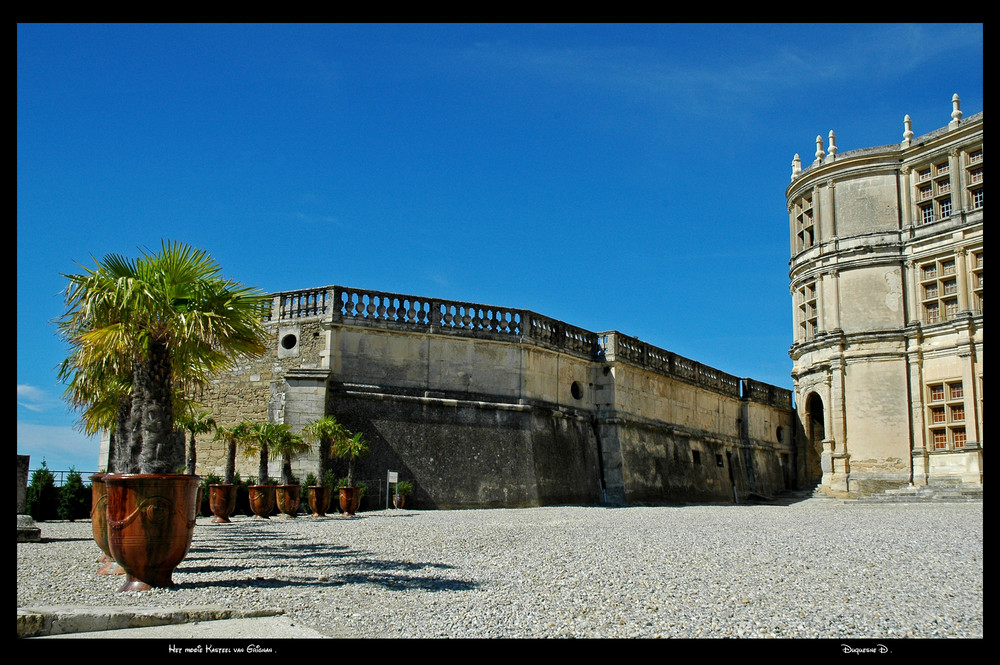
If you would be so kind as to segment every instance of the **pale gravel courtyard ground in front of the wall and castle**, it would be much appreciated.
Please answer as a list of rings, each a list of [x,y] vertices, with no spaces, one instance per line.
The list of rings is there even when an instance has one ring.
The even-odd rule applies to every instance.
[[[117,593],[89,521],[17,545],[17,606],[281,608],[327,635],[983,637],[982,503],[200,518],[173,589]]]

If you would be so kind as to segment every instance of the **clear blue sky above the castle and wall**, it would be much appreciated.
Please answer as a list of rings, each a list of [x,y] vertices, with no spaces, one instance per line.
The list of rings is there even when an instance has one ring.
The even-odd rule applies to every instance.
[[[534,310],[791,387],[784,190],[983,110],[981,24],[19,25],[17,449],[97,468],[61,273],[161,239],[267,291]]]

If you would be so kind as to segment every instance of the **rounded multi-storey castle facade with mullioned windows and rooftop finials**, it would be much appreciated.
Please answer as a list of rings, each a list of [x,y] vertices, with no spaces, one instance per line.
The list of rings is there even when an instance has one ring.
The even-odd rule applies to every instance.
[[[792,162],[790,355],[805,483],[983,481],[983,114]]]

